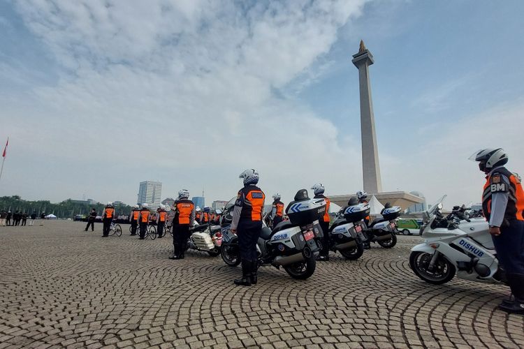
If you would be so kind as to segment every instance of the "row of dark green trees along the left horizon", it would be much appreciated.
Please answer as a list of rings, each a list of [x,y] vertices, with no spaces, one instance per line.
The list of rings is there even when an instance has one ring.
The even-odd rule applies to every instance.
[[[19,195],[13,196],[2,196],[0,197],[0,210],[10,210],[11,212],[21,211],[22,213],[27,212],[32,214],[36,211],[36,214],[40,216],[42,213],[54,214],[58,218],[73,218],[77,214],[87,215],[91,209],[96,209],[97,214],[102,214],[104,204],[97,202],[96,204],[73,202],[71,199],[64,200],[58,203],[52,203],[49,200],[36,200],[29,201],[23,200]],[[129,214],[131,206],[129,205],[115,205],[117,215]]]

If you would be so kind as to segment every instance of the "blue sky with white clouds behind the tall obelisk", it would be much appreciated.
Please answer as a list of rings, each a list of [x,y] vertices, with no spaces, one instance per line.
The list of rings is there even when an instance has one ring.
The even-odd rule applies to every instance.
[[[354,193],[361,38],[384,190],[478,201],[481,147],[524,172],[522,1],[109,2],[0,0],[0,195]]]

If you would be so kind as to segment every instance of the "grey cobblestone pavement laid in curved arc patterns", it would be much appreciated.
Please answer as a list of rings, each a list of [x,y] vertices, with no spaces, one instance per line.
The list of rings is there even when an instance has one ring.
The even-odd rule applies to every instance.
[[[0,348],[523,348],[524,317],[496,310],[508,289],[409,269],[419,237],[355,262],[332,255],[307,281],[240,267],[170,239],[102,239],[101,225],[46,221],[0,228]]]

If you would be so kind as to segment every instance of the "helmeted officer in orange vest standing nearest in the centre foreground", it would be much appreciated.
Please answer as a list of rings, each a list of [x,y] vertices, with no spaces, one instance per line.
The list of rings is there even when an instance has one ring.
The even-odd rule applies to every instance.
[[[231,232],[238,235],[238,248],[242,260],[242,278],[236,279],[236,285],[250,286],[257,282],[256,271],[259,267],[256,255],[256,242],[262,232],[262,211],[265,195],[259,183],[259,172],[245,170],[239,176],[244,180],[244,188],[238,191]]]

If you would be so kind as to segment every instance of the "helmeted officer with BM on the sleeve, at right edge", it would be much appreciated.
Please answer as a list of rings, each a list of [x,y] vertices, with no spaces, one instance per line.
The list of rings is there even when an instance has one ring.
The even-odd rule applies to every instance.
[[[504,299],[499,309],[524,314],[524,190],[518,174],[504,167],[508,162],[502,148],[476,151],[470,160],[486,173],[482,209],[489,222],[497,259],[506,272],[514,299]]]

